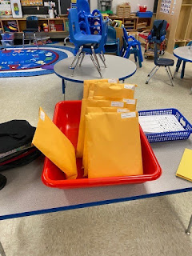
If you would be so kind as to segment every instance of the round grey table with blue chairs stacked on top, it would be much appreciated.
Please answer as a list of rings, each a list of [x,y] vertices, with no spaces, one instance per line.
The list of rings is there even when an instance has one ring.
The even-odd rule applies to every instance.
[[[134,62],[127,58],[122,58],[114,55],[106,54],[106,68],[101,65],[101,72],[103,78],[112,79],[118,78],[119,81],[124,82],[126,78],[132,76],[137,67]],[[83,83],[84,80],[99,79],[98,70],[95,68],[94,63],[91,61],[90,56],[86,55],[82,62],[82,66],[78,66],[72,77],[72,70],[70,64],[73,62],[74,57],[65,58],[54,66],[54,73],[62,78],[62,93],[66,92],[66,82]],[[100,63],[101,64],[101,63]]]

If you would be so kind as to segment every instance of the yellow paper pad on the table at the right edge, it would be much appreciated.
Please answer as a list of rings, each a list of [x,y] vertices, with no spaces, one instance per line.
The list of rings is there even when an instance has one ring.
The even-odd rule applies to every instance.
[[[176,176],[192,182],[192,150],[185,149]]]

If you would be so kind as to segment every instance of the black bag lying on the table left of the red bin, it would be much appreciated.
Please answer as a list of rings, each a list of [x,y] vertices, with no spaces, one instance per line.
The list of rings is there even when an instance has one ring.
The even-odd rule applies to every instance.
[[[0,158],[0,171],[24,166],[38,158],[41,152],[34,146],[25,147],[22,150],[20,148],[30,145],[35,130],[36,128],[30,126],[26,120],[12,120],[0,124],[0,154],[9,152],[8,155]],[[18,148],[20,149],[18,150]]]

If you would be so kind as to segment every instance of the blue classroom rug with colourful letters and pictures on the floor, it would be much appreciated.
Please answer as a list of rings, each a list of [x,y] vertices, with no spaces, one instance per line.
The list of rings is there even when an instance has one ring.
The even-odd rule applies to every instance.
[[[22,46],[0,50],[0,78],[28,77],[54,73],[55,63],[74,56],[66,46]]]

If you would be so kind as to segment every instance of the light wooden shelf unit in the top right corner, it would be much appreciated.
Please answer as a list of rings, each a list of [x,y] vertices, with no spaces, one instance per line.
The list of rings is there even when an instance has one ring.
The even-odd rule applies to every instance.
[[[174,47],[186,46],[192,41],[192,0],[177,0],[176,5],[172,1],[170,14],[160,12],[162,1],[158,2],[157,19],[165,19],[169,24],[167,51],[171,54]],[[174,14],[172,14],[174,6]]]

